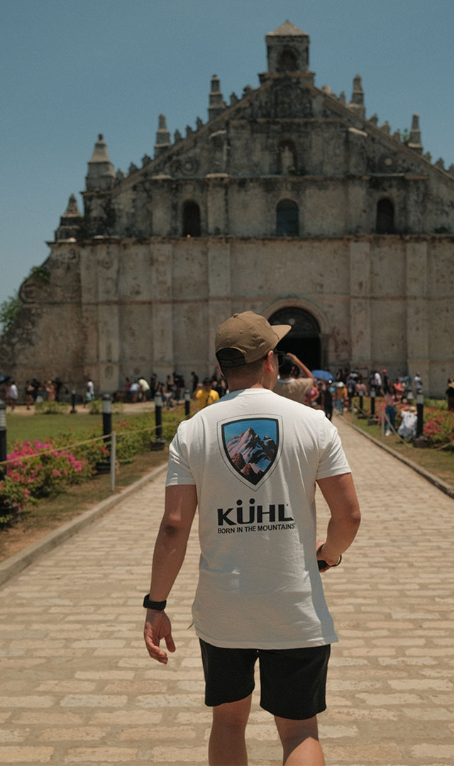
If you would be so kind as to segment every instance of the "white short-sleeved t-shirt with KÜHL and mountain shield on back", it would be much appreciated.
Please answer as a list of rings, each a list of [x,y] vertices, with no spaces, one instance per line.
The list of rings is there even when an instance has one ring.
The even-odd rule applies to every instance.
[[[337,641],[315,557],[315,480],[350,473],[322,411],[233,391],[178,426],[167,485],[195,484],[196,633],[217,647]]]

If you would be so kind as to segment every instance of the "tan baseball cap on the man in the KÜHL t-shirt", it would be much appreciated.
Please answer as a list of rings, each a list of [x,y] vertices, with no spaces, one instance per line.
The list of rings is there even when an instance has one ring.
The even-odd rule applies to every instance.
[[[217,361],[223,367],[240,367],[257,362],[269,351],[273,351],[279,340],[292,329],[290,325],[271,326],[267,319],[253,311],[243,311],[230,316],[216,333],[215,347]],[[236,349],[240,356],[232,358],[227,349]],[[224,350],[226,353],[223,353]]]

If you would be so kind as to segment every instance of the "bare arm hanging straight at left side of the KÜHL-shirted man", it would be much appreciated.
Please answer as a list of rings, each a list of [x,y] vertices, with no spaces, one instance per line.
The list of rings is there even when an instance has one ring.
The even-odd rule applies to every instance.
[[[193,484],[178,484],[165,489],[165,511],[155,542],[150,599],[165,601],[185,560],[189,532],[197,508]],[[161,639],[175,652],[171,624],[165,611],[147,609],[144,628],[145,645],[153,660],[166,664],[168,656],[159,648]]]

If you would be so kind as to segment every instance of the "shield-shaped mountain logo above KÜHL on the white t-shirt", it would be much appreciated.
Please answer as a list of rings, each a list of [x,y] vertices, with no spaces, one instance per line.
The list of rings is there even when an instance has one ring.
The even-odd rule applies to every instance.
[[[230,470],[257,484],[269,473],[279,452],[279,421],[275,417],[248,417],[221,424],[223,457]]]

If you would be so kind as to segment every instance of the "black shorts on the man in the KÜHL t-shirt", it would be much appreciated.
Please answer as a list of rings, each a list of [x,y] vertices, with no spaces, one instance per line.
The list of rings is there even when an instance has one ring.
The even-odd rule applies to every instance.
[[[260,707],[286,719],[309,719],[326,709],[330,644],[302,649],[225,649],[200,640],[205,705],[237,702],[254,689],[260,663]]]

